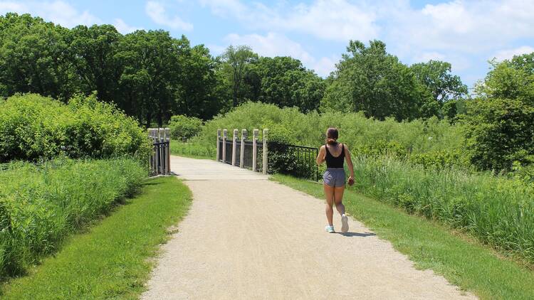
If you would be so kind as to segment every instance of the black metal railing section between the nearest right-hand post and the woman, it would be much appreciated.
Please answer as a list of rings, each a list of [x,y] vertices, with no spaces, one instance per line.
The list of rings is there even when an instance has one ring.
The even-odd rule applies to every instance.
[[[319,168],[315,161],[318,151],[313,147],[269,141],[268,173],[282,173],[318,181]]]

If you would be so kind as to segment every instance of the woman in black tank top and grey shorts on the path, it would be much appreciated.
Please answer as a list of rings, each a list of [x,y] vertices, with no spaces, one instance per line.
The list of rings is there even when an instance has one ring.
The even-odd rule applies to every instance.
[[[347,146],[337,142],[338,135],[339,133],[336,128],[329,128],[326,131],[326,144],[321,146],[317,156],[318,165],[326,161],[323,186],[325,188],[325,212],[328,225],[326,225],[325,230],[330,233],[335,232],[333,223],[334,204],[337,213],[341,215],[341,232],[347,232],[349,230],[348,218],[345,215],[345,205],[342,203],[343,192],[345,191],[345,169],[343,168],[345,161],[347,161],[347,166],[350,171],[348,183],[350,186],[354,184],[354,168],[350,160],[350,152]]]

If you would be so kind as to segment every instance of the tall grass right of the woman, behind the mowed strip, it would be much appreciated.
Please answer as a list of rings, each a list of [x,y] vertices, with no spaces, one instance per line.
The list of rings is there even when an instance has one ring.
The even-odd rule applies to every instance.
[[[533,186],[490,173],[425,169],[388,157],[353,160],[355,187],[362,193],[534,263]]]

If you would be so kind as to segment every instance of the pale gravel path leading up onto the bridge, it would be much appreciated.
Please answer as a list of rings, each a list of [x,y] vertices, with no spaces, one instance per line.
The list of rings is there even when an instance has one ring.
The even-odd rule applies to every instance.
[[[474,299],[324,201],[215,161],[172,157],[194,201],[142,299]],[[340,227],[335,215],[334,225]]]

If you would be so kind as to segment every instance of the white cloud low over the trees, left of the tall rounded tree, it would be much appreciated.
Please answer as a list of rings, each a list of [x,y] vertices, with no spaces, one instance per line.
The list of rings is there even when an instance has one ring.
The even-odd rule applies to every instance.
[[[307,68],[315,70],[320,76],[328,76],[335,69],[335,63],[339,59],[320,58],[315,59],[306,51],[300,43],[290,40],[287,36],[269,32],[265,36],[259,34],[239,35],[231,33],[224,41],[232,45],[248,45],[252,50],[262,56],[291,56],[297,58]]]

